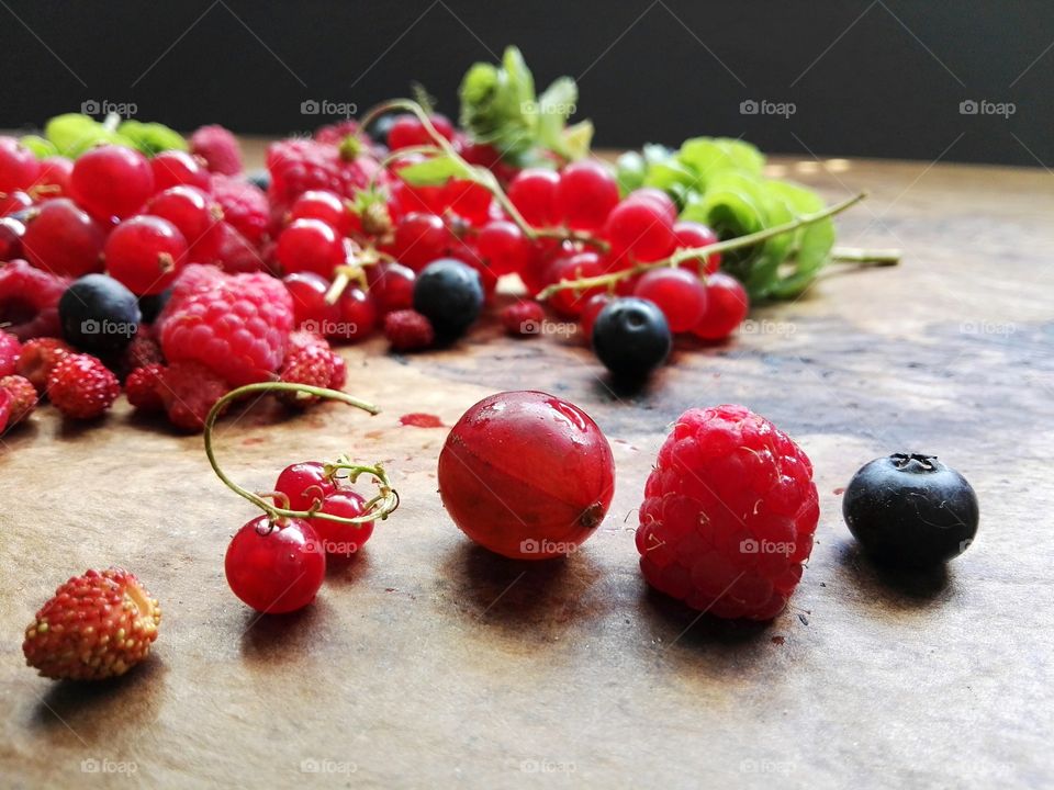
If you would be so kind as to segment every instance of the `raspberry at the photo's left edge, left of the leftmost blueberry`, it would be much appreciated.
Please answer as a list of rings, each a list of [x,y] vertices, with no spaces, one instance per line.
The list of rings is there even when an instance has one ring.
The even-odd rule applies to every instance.
[[[0,324],[20,340],[60,334],[58,300],[69,280],[24,260],[0,263]]]

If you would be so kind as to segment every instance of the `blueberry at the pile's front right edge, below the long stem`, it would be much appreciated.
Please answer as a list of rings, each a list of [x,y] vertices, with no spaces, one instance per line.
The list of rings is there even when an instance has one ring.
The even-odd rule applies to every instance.
[[[670,356],[670,325],[653,302],[608,302],[593,324],[593,350],[616,376],[643,379]]]

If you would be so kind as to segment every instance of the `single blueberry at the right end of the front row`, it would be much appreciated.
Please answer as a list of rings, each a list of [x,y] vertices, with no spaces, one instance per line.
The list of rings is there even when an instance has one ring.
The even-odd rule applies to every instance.
[[[842,515],[875,560],[929,567],[966,551],[977,533],[977,495],[935,455],[894,453],[853,475]]]

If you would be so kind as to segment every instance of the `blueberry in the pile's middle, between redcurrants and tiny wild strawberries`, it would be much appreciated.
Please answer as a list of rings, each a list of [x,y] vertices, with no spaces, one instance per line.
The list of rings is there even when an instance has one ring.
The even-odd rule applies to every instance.
[[[439,337],[462,335],[483,309],[479,273],[455,258],[433,261],[414,283],[414,309],[431,321]]]

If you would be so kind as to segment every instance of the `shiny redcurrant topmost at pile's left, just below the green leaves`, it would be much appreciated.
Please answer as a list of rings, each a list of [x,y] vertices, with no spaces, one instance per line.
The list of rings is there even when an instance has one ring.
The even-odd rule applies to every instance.
[[[154,194],[154,173],[137,150],[103,145],[74,162],[69,188],[77,203],[97,219],[123,219]]]

